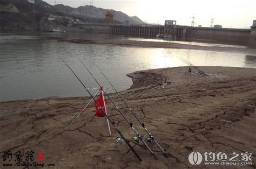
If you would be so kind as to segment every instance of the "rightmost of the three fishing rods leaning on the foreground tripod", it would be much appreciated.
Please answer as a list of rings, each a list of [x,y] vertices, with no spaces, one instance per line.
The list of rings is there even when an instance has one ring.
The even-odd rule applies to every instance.
[[[95,63],[94,63],[95,64]],[[126,101],[124,100],[124,98],[119,94],[119,92],[117,91],[117,89],[112,85],[112,83],[109,81],[109,79],[106,77],[106,75],[102,72],[102,70],[98,67],[98,65],[95,64],[95,66],[99,69],[100,73],[103,74],[103,76],[105,77],[105,79],[110,83],[110,85],[112,86],[112,88],[114,89],[114,91],[116,91],[116,93],[118,94],[118,96],[121,98],[121,100],[125,103],[126,107],[132,112],[133,116],[137,119],[137,121],[142,125],[142,127],[144,128],[144,130],[147,132],[147,134],[149,135],[149,137],[147,138],[147,140],[150,142],[151,140],[153,140],[154,143],[156,143],[156,145],[158,146],[158,148],[160,149],[160,151],[164,154],[164,156],[166,158],[168,158],[167,153],[164,151],[164,149],[160,146],[160,144],[157,142],[157,140],[153,137],[152,133],[147,130],[145,124],[140,121],[140,119],[138,118],[138,116],[135,114],[135,112],[130,108],[130,106],[126,103]]]

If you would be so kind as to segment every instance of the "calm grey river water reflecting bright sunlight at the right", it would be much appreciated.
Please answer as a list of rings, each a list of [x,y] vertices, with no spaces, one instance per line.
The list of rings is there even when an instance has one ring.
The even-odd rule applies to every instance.
[[[62,57],[70,65],[86,86],[91,88],[92,93],[96,93],[97,90],[94,88],[98,88],[97,84],[78,59],[87,65],[105,88],[110,88],[98,69],[92,64],[95,62],[118,90],[127,89],[132,85],[131,79],[126,76],[127,73],[145,69],[186,66],[180,60],[181,57],[196,66],[256,68],[256,51],[255,54],[247,54],[73,44],[40,38],[47,36],[94,39],[124,38],[80,33],[0,33],[0,101],[37,99],[49,96],[87,96],[83,87],[59,57]],[[187,44],[221,46],[202,43]],[[244,46],[229,47],[245,48]],[[111,89],[106,90],[113,92]]]

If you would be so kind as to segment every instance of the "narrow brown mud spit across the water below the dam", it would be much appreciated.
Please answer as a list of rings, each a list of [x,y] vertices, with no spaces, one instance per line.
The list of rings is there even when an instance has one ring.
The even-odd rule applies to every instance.
[[[251,55],[255,55],[256,53],[256,49],[254,48],[202,46],[202,45],[191,45],[191,44],[180,44],[180,43],[158,42],[158,41],[122,40],[122,39],[110,39],[110,40],[66,39],[66,38],[56,38],[56,37],[45,37],[43,39],[58,40],[60,42],[69,42],[69,43],[77,43],[77,44],[103,44],[103,45],[105,44],[105,45],[120,45],[120,46],[135,46],[135,47],[177,48],[177,49],[186,49],[186,50],[245,53],[245,54],[251,54]]]

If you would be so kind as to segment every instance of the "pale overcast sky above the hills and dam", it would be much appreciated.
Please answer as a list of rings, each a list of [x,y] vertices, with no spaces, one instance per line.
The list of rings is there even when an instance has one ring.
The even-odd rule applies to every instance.
[[[44,0],[55,4],[55,0]],[[89,5],[91,0],[56,0],[57,4],[77,8]],[[191,25],[194,13],[195,25],[250,28],[256,20],[256,0],[93,0],[93,6],[122,11],[129,16],[138,16],[147,23],[164,24],[164,20],[177,20],[178,25]]]

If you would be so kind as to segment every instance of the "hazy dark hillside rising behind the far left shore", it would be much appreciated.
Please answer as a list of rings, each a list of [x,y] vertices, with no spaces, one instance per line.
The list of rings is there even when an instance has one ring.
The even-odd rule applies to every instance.
[[[63,4],[50,5],[42,0],[0,0],[0,29],[41,30],[45,18],[50,15],[72,17],[85,23],[104,23],[107,9],[86,5],[72,8]],[[33,2],[33,0],[32,0]],[[142,25],[138,17],[130,17],[121,11],[114,11],[114,23]]]

